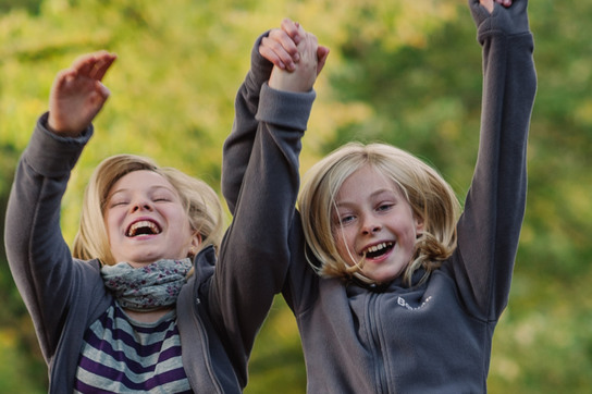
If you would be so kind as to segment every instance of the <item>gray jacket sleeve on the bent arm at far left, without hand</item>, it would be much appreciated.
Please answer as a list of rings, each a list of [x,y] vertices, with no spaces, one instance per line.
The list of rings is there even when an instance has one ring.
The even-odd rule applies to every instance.
[[[76,278],[60,229],[70,172],[92,134],[61,138],[41,116],[23,152],[7,208],[4,244],[12,275],[33,318],[46,360],[53,356]]]

